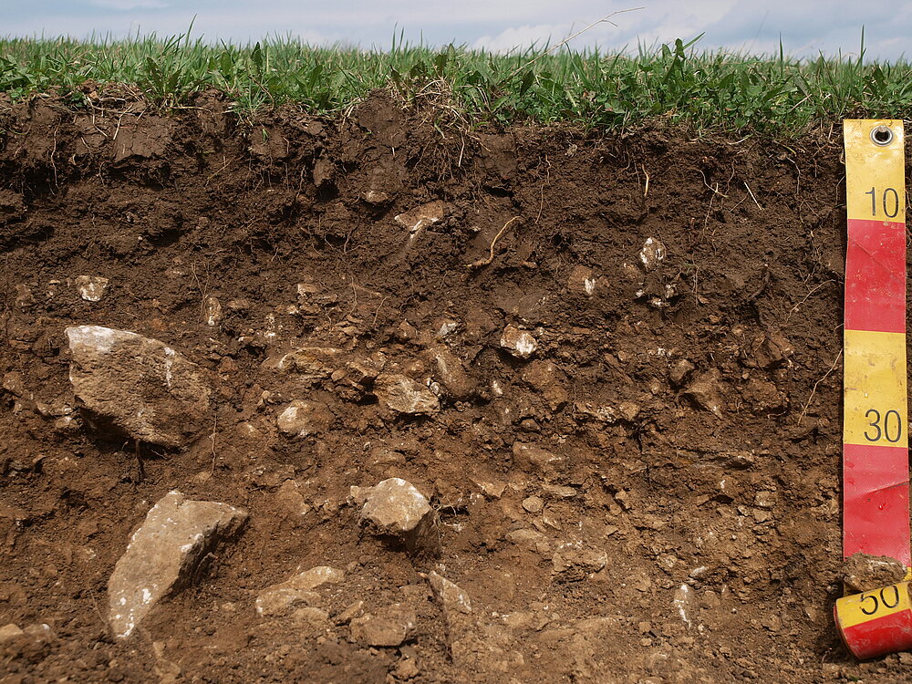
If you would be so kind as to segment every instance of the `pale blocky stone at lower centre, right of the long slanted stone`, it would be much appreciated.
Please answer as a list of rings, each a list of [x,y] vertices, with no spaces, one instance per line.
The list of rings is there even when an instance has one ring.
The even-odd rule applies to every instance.
[[[361,523],[374,534],[394,537],[409,550],[439,546],[437,515],[411,482],[393,477],[366,489],[352,487],[352,498],[364,502]]]

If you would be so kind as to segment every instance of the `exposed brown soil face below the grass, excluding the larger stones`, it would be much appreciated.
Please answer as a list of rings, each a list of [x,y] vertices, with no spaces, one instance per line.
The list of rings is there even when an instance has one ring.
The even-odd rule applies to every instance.
[[[3,681],[906,679],[899,656],[855,663],[831,617],[837,136],[460,132],[382,93],[332,122],[240,123],[214,97],[0,117],[0,627],[51,629],[0,647]],[[434,201],[442,220],[417,233],[394,219]],[[667,251],[651,270],[648,238]],[[99,301],[80,275],[109,278]],[[166,451],[59,420],[76,405],[63,330],[83,324],[210,369],[211,429]],[[501,347],[508,325],[532,358]],[[264,367],[295,345],[342,352],[329,374]],[[435,349],[464,372],[444,377]],[[378,403],[378,364],[440,411]],[[330,427],[282,434],[292,399],[324,403]],[[349,488],[393,476],[439,514],[439,555],[359,524]],[[109,576],[173,489],[250,523],[116,640]],[[560,572],[566,549],[606,565]],[[345,571],[320,590],[325,623],[257,616],[259,591],[315,565]],[[453,648],[431,570],[471,596],[474,648]],[[414,636],[359,643],[337,618],[357,601],[409,606]]]

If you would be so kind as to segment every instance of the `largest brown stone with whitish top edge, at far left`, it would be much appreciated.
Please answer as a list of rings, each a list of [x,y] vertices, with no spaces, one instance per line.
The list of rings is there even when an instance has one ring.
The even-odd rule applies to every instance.
[[[171,448],[212,427],[212,389],[202,368],[181,353],[127,330],[75,326],[65,332],[69,379],[94,422]]]

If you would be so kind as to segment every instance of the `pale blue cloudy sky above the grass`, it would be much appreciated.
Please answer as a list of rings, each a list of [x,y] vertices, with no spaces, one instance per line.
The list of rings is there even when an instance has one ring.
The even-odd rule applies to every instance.
[[[912,57],[912,1],[904,0],[0,0],[0,35],[171,36],[192,23],[192,36],[212,42],[281,34],[314,45],[385,49],[403,31],[411,43],[503,52],[549,40],[554,45],[640,5],[612,16],[617,26],[598,24],[570,45],[613,52],[702,33],[697,46],[709,50],[778,53],[782,40],[793,57],[856,56],[864,26],[867,57]]]

